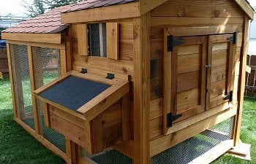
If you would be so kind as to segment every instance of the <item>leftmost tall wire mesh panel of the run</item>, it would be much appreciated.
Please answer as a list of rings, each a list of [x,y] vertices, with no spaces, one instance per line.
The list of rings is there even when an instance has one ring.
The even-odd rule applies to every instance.
[[[12,74],[15,81],[15,101],[20,120],[34,129],[34,113],[31,98],[29,57],[26,46],[10,44]]]

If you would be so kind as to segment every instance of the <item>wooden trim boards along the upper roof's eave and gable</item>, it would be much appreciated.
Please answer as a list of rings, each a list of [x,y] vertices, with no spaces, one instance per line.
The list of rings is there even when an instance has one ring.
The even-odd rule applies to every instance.
[[[74,12],[61,13],[61,23],[84,23],[101,20],[116,20],[132,17],[140,17],[146,12],[165,3],[167,0],[140,0],[128,4],[118,4],[108,7],[98,7],[94,9],[84,9]],[[246,0],[234,0],[241,9],[253,20],[254,9]]]

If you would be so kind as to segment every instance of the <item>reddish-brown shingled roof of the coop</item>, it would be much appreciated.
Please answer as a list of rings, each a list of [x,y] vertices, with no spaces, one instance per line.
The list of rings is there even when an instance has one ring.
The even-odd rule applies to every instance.
[[[56,34],[68,26],[61,23],[61,12],[72,12],[81,9],[92,9],[96,7],[107,7],[114,4],[127,4],[138,0],[87,0],[78,4],[57,7],[45,14],[26,20],[17,26],[12,26],[3,33],[34,33],[34,34]]]

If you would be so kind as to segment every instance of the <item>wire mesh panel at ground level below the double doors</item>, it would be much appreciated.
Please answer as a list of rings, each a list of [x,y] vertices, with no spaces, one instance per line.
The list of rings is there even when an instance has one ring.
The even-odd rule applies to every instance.
[[[152,157],[152,164],[162,163],[189,163],[200,155],[216,147],[222,141],[231,139],[233,133],[234,117],[220,122],[217,125],[181,142]]]

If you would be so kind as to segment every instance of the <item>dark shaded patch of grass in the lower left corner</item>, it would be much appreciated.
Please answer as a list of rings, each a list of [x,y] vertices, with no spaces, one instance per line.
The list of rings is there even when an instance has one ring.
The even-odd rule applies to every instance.
[[[1,110],[0,116],[0,163],[64,163],[13,120],[12,109]]]

